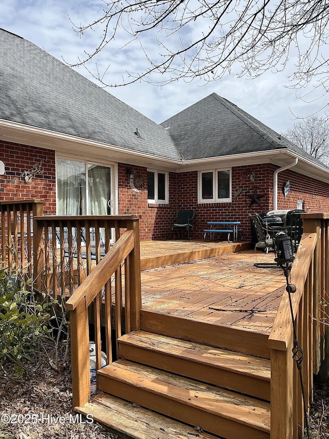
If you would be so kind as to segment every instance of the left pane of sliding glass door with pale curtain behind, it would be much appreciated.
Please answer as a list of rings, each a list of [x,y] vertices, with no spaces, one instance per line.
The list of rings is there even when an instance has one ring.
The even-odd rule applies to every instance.
[[[57,159],[59,215],[86,214],[85,163]]]

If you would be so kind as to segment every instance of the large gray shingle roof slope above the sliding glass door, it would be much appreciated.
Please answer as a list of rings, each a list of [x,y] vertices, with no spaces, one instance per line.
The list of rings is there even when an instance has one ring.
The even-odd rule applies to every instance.
[[[50,56],[0,29],[0,119],[177,158],[163,127]],[[136,129],[141,135],[137,136]]]

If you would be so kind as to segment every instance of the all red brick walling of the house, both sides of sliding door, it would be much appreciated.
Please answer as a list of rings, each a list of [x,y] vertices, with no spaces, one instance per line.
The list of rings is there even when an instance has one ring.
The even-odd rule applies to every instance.
[[[56,213],[56,175],[55,154],[43,148],[0,141],[0,159],[5,163],[5,175],[0,176],[0,200],[44,198],[44,211]],[[43,174],[36,175],[28,184],[21,174],[23,171],[42,163]],[[126,168],[132,168],[140,175],[144,185],[134,192],[129,184]],[[141,215],[141,240],[168,239],[170,223],[177,209],[196,209],[192,237],[202,238],[207,221],[241,221],[243,236],[250,237],[248,213],[264,212],[273,205],[273,164],[232,168],[232,203],[197,203],[197,172],[169,173],[169,204],[148,204],[147,169],[131,164],[118,164],[119,178],[119,214]],[[250,178],[252,176],[252,178]],[[290,182],[290,192],[284,197],[282,188]],[[278,209],[296,209],[297,200],[304,200],[304,209],[308,212],[329,212],[329,185],[311,177],[287,170],[278,175]],[[265,193],[260,198],[262,206],[252,204],[246,193]]]

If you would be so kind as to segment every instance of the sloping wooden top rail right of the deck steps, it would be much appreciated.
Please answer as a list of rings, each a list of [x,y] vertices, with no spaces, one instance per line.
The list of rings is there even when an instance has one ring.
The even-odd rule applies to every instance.
[[[293,305],[295,318],[297,316],[299,303],[308,275],[308,268],[310,266],[310,263],[312,262],[316,244],[316,233],[304,233],[296,253],[296,260],[294,261],[293,268],[291,269],[290,283],[296,286],[296,292],[291,295],[291,303]],[[282,296],[278,313],[268,338],[269,347],[270,349],[286,351],[289,345],[290,338],[291,314],[288,293],[285,291]]]

